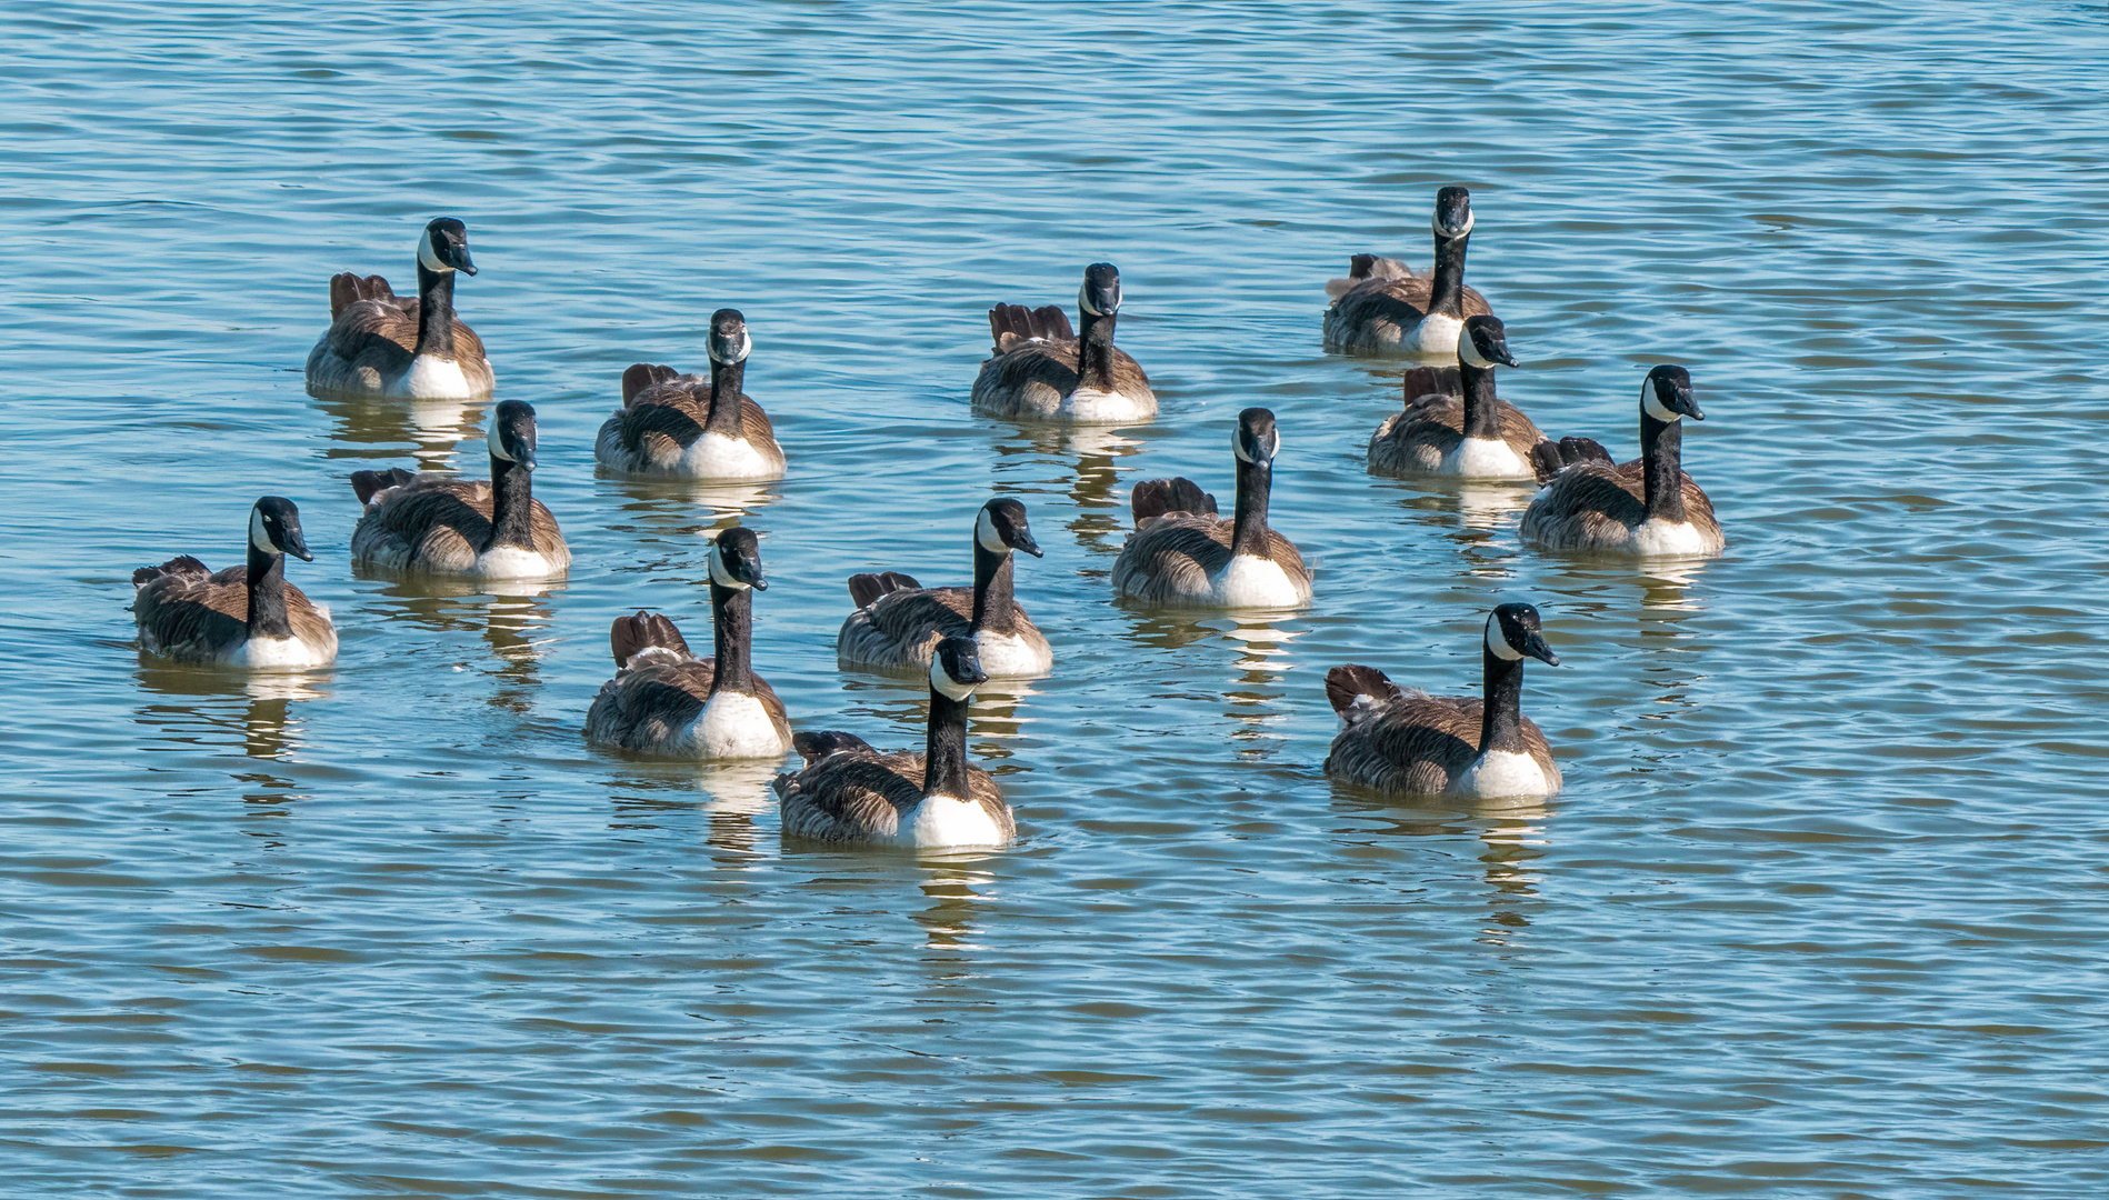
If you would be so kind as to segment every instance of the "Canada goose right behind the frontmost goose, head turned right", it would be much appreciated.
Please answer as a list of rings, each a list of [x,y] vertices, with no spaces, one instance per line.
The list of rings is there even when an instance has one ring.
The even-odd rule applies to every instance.
[[[998,496],[974,517],[974,586],[926,588],[901,572],[850,576],[856,612],[835,635],[846,664],[922,671],[943,637],[972,637],[979,664],[995,679],[1031,679],[1054,666],[1054,652],[1010,593],[1012,550],[1042,557],[1025,504]]]

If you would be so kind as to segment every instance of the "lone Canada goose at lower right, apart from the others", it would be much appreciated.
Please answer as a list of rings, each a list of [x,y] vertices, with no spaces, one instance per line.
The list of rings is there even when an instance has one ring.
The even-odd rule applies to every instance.
[[[1552,795],[1561,768],[1523,715],[1523,660],[1559,666],[1537,609],[1504,603],[1487,616],[1483,694],[1400,692],[1375,666],[1335,666],[1324,696],[1348,725],[1324,774],[1407,795]]]

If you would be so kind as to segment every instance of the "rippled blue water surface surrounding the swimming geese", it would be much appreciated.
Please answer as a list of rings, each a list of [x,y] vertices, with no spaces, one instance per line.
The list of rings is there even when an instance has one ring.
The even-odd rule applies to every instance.
[[[0,1164],[11,1196],[2094,1196],[2109,234],[2098,4],[523,8],[0,15]],[[1516,542],[1518,489],[1373,479],[1396,365],[1320,352],[1352,251],[1472,188],[1504,394],[1630,453],[1691,367],[1691,567]],[[481,420],[310,399],[327,276],[462,314],[576,553],[531,595],[346,561],[361,466]],[[966,392],[995,299],[1126,283],[1154,426]],[[791,477],[599,475],[624,365],[755,335]],[[1107,603],[1137,479],[1280,415],[1293,618]],[[850,572],[968,576],[1031,510],[1057,673],[976,702],[1021,841],[787,846],[770,770],[582,744],[605,631],[835,666]],[[141,662],[135,565],[293,498],[335,669]],[[1567,791],[1331,785],[1337,662],[1459,692],[1502,599]]]

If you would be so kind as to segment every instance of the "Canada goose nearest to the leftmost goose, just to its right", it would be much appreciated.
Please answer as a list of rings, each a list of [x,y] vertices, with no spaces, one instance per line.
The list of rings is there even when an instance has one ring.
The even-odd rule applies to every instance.
[[[534,498],[534,407],[491,413],[491,481],[407,470],[354,470],[367,506],[352,563],[475,580],[550,580],[572,565],[557,519]]]

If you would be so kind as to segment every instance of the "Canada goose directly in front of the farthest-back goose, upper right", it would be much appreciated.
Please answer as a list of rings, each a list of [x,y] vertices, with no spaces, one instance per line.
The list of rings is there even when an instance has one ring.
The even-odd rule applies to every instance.
[[[1468,316],[1457,333],[1457,367],[1411,367],[1405,411],[1369,434],[1369,468],[1379,475],[1453,479],[1537,479],[1531,449],[1546,434],[1516,405],[1493,394],[1493,365],[1514,367],[1499,316]]]

